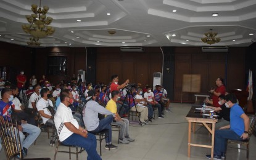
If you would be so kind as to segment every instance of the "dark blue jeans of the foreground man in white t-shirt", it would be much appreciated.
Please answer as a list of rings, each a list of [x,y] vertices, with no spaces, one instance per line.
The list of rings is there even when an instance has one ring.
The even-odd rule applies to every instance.
[[[97,142],[96,137],[93,134],[88,133],[88,137],[82,137],[78,134],[72,134],[70,137],[66,138],[63,142],[64,145],[75,145],[85,148],[88,156],[88,160],[101,160],[101,156],[97,154]]]

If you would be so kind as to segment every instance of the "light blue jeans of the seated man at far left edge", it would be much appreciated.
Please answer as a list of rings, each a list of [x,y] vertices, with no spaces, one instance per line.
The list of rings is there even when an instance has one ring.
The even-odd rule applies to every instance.
[[[22,148],[24,147],[28,149],[35,142],[36,138],[38,138],[39,134],[41,133],[41,129],[31,124],[22,124],[21,126],[23,128],[23,132],[27,132],[29,135],[27,138],[25,138],[25,135],[19,131],[20,143]]]

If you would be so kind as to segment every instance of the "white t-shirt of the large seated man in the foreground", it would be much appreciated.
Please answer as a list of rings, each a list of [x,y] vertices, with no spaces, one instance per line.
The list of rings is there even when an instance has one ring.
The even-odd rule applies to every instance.
[[[65,122],[71,122],[77,129],[79,129],[79,124],[76,119],[73,118],[71,109],[65,106],[63,103],[60,103],[56,113],[54,114],[54,123],[60,142],[64,141],[73,134],[73,132],[67,129],[64,124]]]

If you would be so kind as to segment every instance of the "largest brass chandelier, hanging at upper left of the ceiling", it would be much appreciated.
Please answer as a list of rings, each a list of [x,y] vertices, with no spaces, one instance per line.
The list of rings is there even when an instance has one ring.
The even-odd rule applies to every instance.
[[[52,18],[46,17],[49,7],[44,6],[43,9],[41,9],[40,0],[39,8],[36,4],[32,4],[31,10],[34,14],[25,15],[29,24],[22,25],[23,31],[31,34],[31,36],[36,39],[53,34],[55,29],[52,26],[49,26],[52,22]]]

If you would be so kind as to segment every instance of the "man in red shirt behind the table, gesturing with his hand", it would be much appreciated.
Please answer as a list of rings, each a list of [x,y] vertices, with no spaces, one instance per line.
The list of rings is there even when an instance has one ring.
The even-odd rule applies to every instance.
[[[218,87],[217,89],[211,89],[209,91],[212,94],[212,100],[206,100],[206,102],[215,107],[220,107],[221,105],[218,103],[218,97],[220,95],[225,95],[226,87],[223,84],[223,78],[217,78],[215,82]]]

